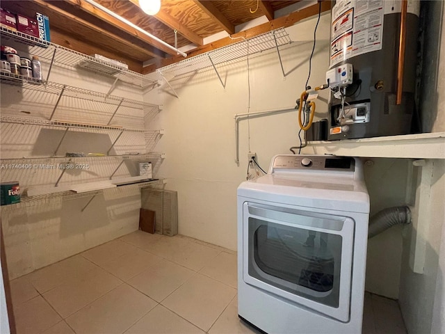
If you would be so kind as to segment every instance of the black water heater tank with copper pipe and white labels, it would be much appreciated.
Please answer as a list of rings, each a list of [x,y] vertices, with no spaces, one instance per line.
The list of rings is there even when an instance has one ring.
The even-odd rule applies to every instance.
[[[412,133],[419,0],[334,2],[328,140]]]

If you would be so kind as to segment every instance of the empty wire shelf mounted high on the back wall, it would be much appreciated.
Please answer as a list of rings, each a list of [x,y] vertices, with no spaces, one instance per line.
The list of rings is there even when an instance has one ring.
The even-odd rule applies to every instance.
[[[268,49],[280,47],[291,43],[291,38],[284,28],[262,33],[253,38],[236,42],[226,47],[184,59],[178,63],[159,68],[156,72],[161,74],[173,74],[175,77],[202,70],[213,65],[227,63],[245,56],[251,56]]]

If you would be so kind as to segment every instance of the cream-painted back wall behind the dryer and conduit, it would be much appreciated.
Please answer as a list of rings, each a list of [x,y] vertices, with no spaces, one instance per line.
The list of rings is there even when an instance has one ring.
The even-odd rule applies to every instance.
[[[330,14],[322,15],[309,84],[325,81],[328,66]],[[304,90],[308,58],[316,18],[289,29],[293,42],[282,47],[283,79],[274,49],[250,58],[250,112],[295,106]],[[248,112],[247,61],[243,59],[218,66],[226,88],[213,69],[170,81],[179,99],[167,85],[147,95],[158,99],[163,111],[154,127],[165,129],[156,150],[166,153],[159,176],[167,178],[167,189],[178,191],[179,233],[236,249],[236,188],[245,180],[249,122],[240,122],[241,164],[234,163],[234,115]],[[169,78],[168,78],[169,79]],[[326,95],[324,95],[326,96]],[[317,102],[326,110],[326,100]],[[290,153],[297,143],[297,113],[286,113],[250,120],[250,151],[259,164],[268,168],[275,154]]]

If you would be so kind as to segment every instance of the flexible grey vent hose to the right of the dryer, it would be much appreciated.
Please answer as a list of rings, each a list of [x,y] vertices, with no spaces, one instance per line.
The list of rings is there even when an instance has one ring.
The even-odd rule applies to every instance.
[[[373,215],[369,221],[368,239],[397,224],[411,223],[411,211],[406,205],[389,207]]]

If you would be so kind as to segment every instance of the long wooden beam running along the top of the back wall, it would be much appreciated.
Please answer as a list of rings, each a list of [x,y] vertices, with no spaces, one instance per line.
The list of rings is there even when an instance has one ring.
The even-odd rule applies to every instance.
[[[321,1],[321,13],[324,13],[330,9],[331,9],[331,1]],[[227,45],[239,42],[237,38],[246,38],[246,39],[252,38],[255,37],[256,35],[260,35],[261,33],[267,33],[268,31],[272,31],[275,29],[293,26],[293,24],[296,24],[302,19],[307,19],[308,17],[312,17],[317,14],[318,14],[318,3],[313,6],[303,8],[302,10],[297,10],[296,12],[290,13],[289,15],[279,17],[277,19],[274,19],[273,21],[260,24],[259,26],[254,26],[251,29],[235,33],[234,35],[231,36],[232,38],[230,37],[223,38],[221,40],[217,40],[216,42],[203,45],[202,47],[197,47],[196,49],[188,51],[187,58],[198,56],[199,54],[204,54],[205,52],[209,52],[214,49],[218,49],[220,47],[225,47]],[[184,60],[184,57],[178,57],[178,56],[168,59],[162,59],[161,61],[156,62],[156,64],[143,67],[143,74],[154,72],[159,67],[171,65],[173,63],[177,63],[182,60]]]

